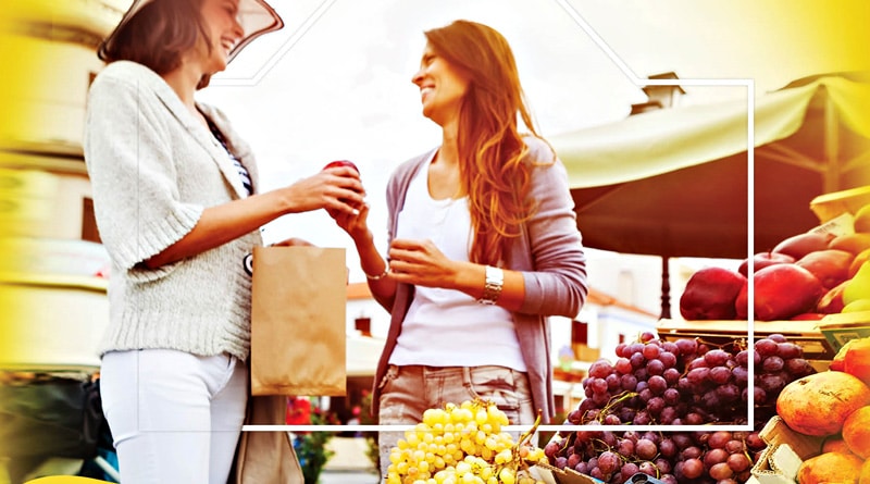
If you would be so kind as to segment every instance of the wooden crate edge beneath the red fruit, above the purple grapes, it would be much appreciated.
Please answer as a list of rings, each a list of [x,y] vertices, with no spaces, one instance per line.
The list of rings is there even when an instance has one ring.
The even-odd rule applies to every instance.
[[[697,338],[700,342],[717,346],[728,345],[735,340],[748,339],[748,321],[684,321],[659,320],[658,335],[664,340],[679,338]],[[788,342],[804,350],[804,358],[817,370],[828,370],[836,351],[819,328],[819,321],[755,321],[753,334],[756,339],[771,334],[782,334]]]

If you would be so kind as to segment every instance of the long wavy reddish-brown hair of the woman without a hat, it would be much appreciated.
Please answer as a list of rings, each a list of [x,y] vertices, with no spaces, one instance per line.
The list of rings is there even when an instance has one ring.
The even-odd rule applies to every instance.
[[[523,161],[529,147],[518,131],[518,114],[532,135],[539,136],[513,52],[501,34],[460,20],[426,30],[425,36],[435,53],[470,79],[457,139],[474,234],[469,256],[472,262],[495,265],[535,210],[527,198],[532,166]]]

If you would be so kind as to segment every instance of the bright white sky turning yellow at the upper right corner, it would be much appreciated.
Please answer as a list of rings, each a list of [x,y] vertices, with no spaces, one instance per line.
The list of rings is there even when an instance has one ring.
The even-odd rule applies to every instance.
[[[810,0],[273,0],[285,28],[248,46],[200,99],[223,109],[253,147],[265,189],[328,161],[360,167],[370,226],[386,247],[384,189],[393,167],[439,141],[411,76],[423,32],[456,18],[485,23],[511,45],[545,137],[618,122],[646,101],[643,79],[675,72],[680,103],[746,99],[808,75],[867,70],[870,8]],[[378,228],[382,233],[378,233]],[[323,211],[286,215],[268,241],[289,236],[349,248]]]

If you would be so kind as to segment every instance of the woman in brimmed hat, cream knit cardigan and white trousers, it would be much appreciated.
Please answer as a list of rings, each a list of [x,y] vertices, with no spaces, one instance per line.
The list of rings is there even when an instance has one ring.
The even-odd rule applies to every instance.
[[[248,145],[196,100],[282,25],[263,0],[136,0],[100,47],[109,65],[89,91],[84,145],[112,260],[101,393],[124,484],[227,482],[248,400],[259,228],[362,204],[348,167],[260,194]]]

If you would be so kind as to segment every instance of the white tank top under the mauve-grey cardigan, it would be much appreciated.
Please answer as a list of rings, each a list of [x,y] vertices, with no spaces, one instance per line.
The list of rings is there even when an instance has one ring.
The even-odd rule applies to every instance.
[[[471,248],[468,197],[434,200],[427,170],[411,181],[396,238],[430,239],[452,260],[468,261]],[[417,286],[402,322],[391,364],[500,365],[525,371],[510,311],[484,306],[453,289]]]

